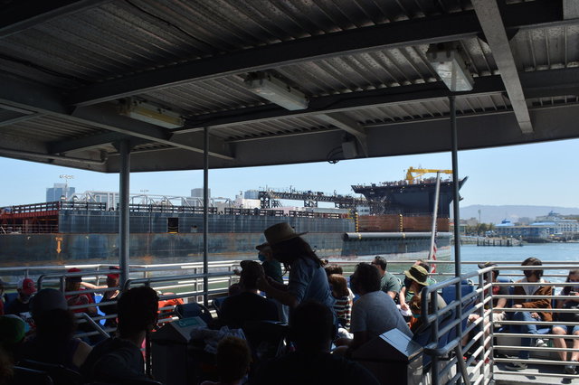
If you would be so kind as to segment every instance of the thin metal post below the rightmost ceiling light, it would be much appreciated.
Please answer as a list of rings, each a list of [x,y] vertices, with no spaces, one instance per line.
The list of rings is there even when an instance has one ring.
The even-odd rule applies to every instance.
[[[453,186],[453,197],[452,197],[452,209],[454,211],[454,276],[460,277],[460,179],[459,179],[459,139],[456,131],[456,104],[455,97],[449,97],[449,104],[451,108],[451,138],[452,138],[452,186]],[[456,283],[456,300],[459,305],[456,307],[456,319],[462,319],[462,282],[459,279]],[[456,325],[456,335],[459,338],[459,343],[457,344],[454,351],[457,355],[457,360],[460,367],[460,372],[462,373],[462,380],[465,384],[469,385],[469,375],[467,372],[466,364],[462,360],[462,346],[460,346],[460,339],[462,338],[462,322]]]

